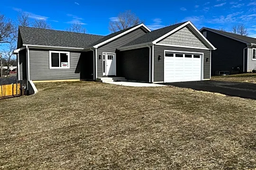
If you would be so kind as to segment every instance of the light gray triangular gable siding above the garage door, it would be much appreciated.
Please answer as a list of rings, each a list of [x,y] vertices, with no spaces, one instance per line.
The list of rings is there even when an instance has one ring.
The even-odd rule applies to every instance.
[[[199,47],[199,48],[208,48],[196,34],[194,34],[191,29],[187,26],[178,30],[174,34],[171,34],[164,40],[158,42],[161,44],[169,45],[180,45],[180,46],[189,46],[189,47]]]

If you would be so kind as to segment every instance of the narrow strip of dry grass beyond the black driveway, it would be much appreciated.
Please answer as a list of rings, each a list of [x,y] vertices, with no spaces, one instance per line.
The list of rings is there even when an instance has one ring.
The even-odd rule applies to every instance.
[[[227,76],[212,76],[211,80],[256,83],[256,73],[245,73]]]

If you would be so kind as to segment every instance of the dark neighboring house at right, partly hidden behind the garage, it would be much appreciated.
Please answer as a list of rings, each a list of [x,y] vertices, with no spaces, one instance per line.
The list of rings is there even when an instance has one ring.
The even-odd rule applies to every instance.
[[[236,74],[256,69],[256,39],[211,28],[201,33],[217,50],[211,53],[211,75]]]

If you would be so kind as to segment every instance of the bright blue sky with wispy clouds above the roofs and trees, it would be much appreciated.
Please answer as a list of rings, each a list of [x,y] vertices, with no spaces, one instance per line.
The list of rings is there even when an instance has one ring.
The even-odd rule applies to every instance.
[[[157,2],[157,3],[156,3]],[[0,12],[16,19],[18,10],[33,19],[47,20],[53,29],[64,30],[80,22],[88,34],[109,34],[108,25],[119,12],[132,10],[151,30],[175,21],[190,20],[203,26],[231,30],[244,23],[249,35],[256,37],[256,0],[2,0]]]

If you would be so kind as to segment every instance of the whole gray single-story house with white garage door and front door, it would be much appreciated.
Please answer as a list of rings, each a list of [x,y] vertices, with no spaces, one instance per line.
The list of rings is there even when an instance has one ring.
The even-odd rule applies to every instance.
[[[190,21],[150,31],[144,24],[107,36],[19,27],[18,77],[27,81],[140,82],[210,79],[215,47]]]

